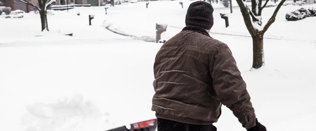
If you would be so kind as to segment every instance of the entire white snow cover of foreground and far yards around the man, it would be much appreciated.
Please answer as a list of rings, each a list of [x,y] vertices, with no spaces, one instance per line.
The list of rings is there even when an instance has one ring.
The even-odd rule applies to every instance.
[[[168,24],[161,40],[181,31],[194,1],[183,1],[183,8],[179,2],[124,3],[108,6],[107,14],[105,6],[52,11],[49,32],[40,31],[34,12],[19,19],[0,15],[0,130],[105,131],[154,119],[153,63],[162,45],[153,42],[155,25]],[[285,14],[316,4],[281,7],[264,35],[265,66],[257,70],[250,70],[252,38],[232,4],[232,14],[213,4],[210,35],[230,47],[259,122],[269,131],[314,131],[316,17],[287,21]],[[263,24],[275,8],[264,8]],[[228,28],[219,13],[228,14]],[[225,106],[214,125],[245,131]]]

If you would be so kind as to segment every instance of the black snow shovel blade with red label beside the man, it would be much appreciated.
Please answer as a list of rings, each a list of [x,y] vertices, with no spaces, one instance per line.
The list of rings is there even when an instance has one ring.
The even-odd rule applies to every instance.
[[[107,131],[155,131],[157,128],[157,119],[151,119],[138,123],[132,123],[131,129],[127,129],[126,126],[121,126]]]

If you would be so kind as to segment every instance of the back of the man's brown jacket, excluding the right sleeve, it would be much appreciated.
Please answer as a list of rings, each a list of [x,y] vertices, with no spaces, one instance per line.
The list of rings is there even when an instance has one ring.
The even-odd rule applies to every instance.
[[[212,124],[220,116],[221,103],[211,88],[209,62],[212,51],[223,43],[203,29],[200,33],[191,28],[172,37],[157,53],[153,110],[196,119],[191,124]]]

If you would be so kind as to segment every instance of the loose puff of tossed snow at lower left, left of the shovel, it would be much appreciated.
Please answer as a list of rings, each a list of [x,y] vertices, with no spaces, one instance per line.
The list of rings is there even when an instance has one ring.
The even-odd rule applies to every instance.
[[[103,130],[108,113],[101,113],[91,101],[80,94],[63,97],[54,103],[32,103],[21,117],[23,131],[86,131]]]

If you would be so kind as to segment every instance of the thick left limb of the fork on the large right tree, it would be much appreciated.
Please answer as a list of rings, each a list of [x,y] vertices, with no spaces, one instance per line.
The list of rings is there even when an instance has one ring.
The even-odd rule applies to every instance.
[[[249,8],[246,6],[246,3],[244,2],[244,0],[236,0],[236,1],[240,7],[241,14],[244,18],[244,22],[246,24],[246,27],[247,27],[250,35],[252,35],[252,36],[256,35],[256,30],[253,28],[253,25],[252,25],[251,16],[249,13]]]

